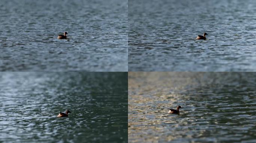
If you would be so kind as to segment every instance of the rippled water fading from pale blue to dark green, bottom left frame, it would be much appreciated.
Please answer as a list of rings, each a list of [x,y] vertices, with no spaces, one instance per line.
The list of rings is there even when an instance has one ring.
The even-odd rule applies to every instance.
[[[0,142],[126,143],[127,73],[0,73]],[[69,109],[69,117],[58,112]]]

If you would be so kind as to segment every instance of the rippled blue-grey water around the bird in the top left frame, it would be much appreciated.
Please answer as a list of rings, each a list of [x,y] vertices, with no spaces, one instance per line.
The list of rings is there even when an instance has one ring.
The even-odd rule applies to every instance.
[[[127,10],[127,0],[1,0],[0,71],[127,71]]]

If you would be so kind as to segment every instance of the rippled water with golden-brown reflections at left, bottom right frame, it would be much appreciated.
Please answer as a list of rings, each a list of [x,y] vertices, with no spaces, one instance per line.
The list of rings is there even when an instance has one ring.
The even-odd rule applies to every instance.
[[[255,83],[256,73],[129,73],[129,143],[255,143]]]

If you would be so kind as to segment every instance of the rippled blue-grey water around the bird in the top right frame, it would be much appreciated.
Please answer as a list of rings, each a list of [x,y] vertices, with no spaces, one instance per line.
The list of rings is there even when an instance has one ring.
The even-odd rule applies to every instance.
[[[128,5],[129,71],[256,71],[255,0]]]

